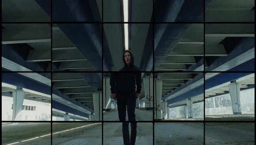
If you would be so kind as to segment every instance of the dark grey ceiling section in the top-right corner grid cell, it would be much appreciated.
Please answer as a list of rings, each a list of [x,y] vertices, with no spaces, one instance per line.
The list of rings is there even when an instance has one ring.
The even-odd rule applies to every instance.
[[[206,7],[207,22],[254,22],[254,0],[212,0]]]

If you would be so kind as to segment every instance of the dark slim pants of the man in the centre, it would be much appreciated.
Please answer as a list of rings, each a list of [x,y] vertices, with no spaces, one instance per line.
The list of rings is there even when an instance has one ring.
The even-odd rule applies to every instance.
[[[117,109],[120,121],[125,121],[126,106],[129,121],[135,120],[136,92],[131,94],[117,93]],[[129,136],[129,122],[123,122],[123,139],[124,145],[135,145],[137,134],[137,123],[131,122],[131,139]]]

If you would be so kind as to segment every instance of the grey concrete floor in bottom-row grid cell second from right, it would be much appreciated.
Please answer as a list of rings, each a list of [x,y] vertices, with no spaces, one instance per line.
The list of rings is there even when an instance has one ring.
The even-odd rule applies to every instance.
[[[156,122],[155,145],[203,145],[204,124],[200,122]]]

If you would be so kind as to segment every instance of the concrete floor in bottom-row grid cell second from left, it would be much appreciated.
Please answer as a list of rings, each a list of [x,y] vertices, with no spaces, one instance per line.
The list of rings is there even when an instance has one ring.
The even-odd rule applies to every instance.
[[[85,126],[90,125],[90,126]],[[84,126],[82,128],[78,128]],[[72,130],[69,130],[72,129]],[[53,145],[101,145],[102,144],[102,124],[70,122],[53,123],[52,142]],[[68,130],[65,132],[60,132]],[[59,133],[57,133],[59,132]],[[54,134],[55,133],[55,134]]]

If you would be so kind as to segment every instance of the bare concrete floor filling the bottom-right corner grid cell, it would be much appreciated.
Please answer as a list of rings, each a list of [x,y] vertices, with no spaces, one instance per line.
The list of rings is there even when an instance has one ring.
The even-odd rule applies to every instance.
[[[206,145],[254,145],[253,122],[209,122],[205,125]]]

